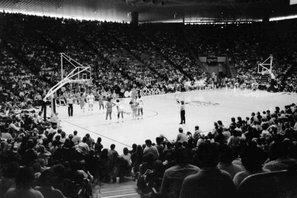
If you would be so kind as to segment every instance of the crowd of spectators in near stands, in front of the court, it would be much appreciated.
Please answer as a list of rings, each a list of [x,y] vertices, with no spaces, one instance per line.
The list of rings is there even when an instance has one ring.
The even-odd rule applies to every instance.
[[[231,118],[203,133],[179,128],[175,140],[160,135],[123,149],[86,134],[63,131],[42,113],[11,111],[0,117],[0,196],[82,197],[94,179],[137,180],[144,197],[234,197],[247,176],[297,165],[297,105]],[[79,191],[82,190],[82,191]]]

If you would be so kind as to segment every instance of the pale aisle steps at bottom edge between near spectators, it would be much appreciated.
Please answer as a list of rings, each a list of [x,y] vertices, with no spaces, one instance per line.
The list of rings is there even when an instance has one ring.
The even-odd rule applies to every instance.
[[[92,198],[141,198],[136,182],[128,180],[124,183],[101,183],[93,187]]]

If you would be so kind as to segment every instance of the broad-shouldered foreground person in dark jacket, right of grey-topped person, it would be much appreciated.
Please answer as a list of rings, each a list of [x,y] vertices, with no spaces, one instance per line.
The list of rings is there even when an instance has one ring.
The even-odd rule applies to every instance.
[[[180,198],[233,198],[236,189],[230,174],[217,168],[218,146],[201,143],[197,155],[201,170],[185,178]]]

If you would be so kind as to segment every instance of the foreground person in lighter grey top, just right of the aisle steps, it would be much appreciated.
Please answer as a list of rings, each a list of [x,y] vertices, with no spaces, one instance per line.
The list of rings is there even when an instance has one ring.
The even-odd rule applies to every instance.
[[[179,148],[175,153],[177,165],[165,170],[160,190],[161,198],[178,198],[184,179],[198,173],[197,166],[189,164],[190,156],[185,148]]]

